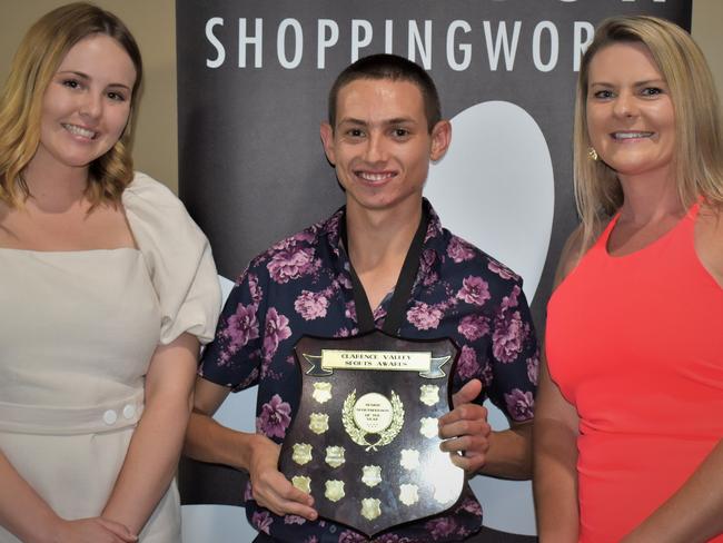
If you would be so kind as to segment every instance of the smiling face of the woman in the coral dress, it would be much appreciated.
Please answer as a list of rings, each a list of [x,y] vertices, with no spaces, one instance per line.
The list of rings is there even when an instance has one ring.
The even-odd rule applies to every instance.
[[[647,48],[636,42],[604,47],[590,65],[590,140],[618,178],[672,176],[675,111]]]

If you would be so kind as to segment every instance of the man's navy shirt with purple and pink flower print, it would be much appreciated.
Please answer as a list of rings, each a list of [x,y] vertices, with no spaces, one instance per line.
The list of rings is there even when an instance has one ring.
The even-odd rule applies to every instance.
[[[539,352],[522,280],[429,215],[419,270],[403,319],[406,338],[450,337],[462,349],[453,389],[479,378],[486,397],[515,422],[532,418]],[[339,241],[339,209],[328,220],[270,247],[251,260],[231,292],[204,354],[200,375],[234,391],[258,385],[256,427],[277,443],[298,407],[300,377],[293,347],[303,335],[357,333],[347,255]],[[390,296],[374,312],[382,327]],[[364,535],[329,521],[277,516],[246,491],[252,525],[278,541],[353,543]],[[375,543],[460,541],[479,530],[482,507],[465,485],[446,514],[377,536]]]

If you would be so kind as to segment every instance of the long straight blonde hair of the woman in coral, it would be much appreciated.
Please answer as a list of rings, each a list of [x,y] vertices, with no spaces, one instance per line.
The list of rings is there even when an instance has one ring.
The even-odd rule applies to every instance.
[[[621,42],[644,45],[667,82],[675,110],[675,168],[681,203],[687,208],[703,197],[709,205],[723,205],[721,112],[703,52],[685,30],[664,19],[647,16],[605,19],[585,51],[577,78],[573,156],[583,249],[623,205],[623,188],[615,171],[602,160],[588,157],[586,118],[591,61],[603,48]]]

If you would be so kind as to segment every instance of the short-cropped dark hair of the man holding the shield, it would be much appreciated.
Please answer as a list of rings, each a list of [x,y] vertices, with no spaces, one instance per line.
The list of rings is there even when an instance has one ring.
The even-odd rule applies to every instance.
[[[429,132],[442,120],[442,107],[437,87],[429,75],[419,65],[397,55],[370,55],[360,58],[348,66],[334,81],[329,90],[329,125],[331,129],[336,124],[336,101],[339,90],[357,79],[389,79],[392,81],[409,81],[422,91],[424,111],[427,117]]]

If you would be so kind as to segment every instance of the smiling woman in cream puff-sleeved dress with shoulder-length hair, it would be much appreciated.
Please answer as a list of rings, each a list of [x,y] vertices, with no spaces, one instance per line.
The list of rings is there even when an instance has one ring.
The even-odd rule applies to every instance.
[[[42,17],[0,101],[0,542],[180,541],[172,483],[200,342],[205,236],[133,174],[138,47],[76,3]]]

